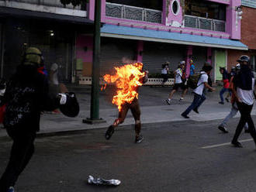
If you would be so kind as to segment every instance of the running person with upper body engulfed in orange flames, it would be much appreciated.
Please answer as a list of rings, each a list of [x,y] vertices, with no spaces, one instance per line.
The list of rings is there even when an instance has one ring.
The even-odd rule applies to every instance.
[[[115,128],[123,123],[126,114],[131,110],[135,120],[135,142],[140,143],[144,139],[140,135],[140,105],[138,101],[138,88],[147,82],[148,71],[143,72],[143,63],[137,63],[123,57],[123,67],[115,67],[114,75],[106,74],[104,80],[107,83],[115,83],[117,87],[116,95],[112,98],[112,103],[118,106],[119,117],[109,126],[106,131],[106,139],[110,139]]]

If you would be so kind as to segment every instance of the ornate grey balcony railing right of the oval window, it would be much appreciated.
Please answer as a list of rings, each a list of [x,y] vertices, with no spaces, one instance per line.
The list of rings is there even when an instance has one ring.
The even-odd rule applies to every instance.
[[[192,15],[185,15],[185,27],[226,32],[226,22],[222,20],[206,19]]]

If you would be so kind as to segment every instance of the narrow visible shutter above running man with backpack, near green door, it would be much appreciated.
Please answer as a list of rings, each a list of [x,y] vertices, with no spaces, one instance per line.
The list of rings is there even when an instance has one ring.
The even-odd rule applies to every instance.
[[[203,46],[193,46],[192,60],[195,65],[195,72],[202,70],[202,66],[207,60],[207,48]]]

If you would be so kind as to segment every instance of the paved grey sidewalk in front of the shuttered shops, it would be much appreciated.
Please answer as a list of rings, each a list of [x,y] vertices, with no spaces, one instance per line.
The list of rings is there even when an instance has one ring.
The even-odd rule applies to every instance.
[[[220,87],[218,87],[220,89]],[[44,114],[41,118],[39,134],[56,134],[57,132],[74,132],[86,129],[102,129],[112,124],[118,115],[116,106],[111,104],[112,88],[107,87],[106,91],[100,93],[100,118],[106,120],[106,123],[89,125],[82,123],[82,119],[88,118],[90,115],[90,87],[69,87],[71,91],[77,93],[80,103],[80,114],[76,118],[67,118],[66,116]],[[218,89],[218,90],[219,90]],[[192,102],[193,94],[189,92],[184,101],[178,101],[181,92],[175,94],[171,105],[167,105],[164,101],[168,98],[171,87],[140,87],[139,101],[141,110],[141,122],[143,124],[156,122],[178,122],[188,121],[180,115],[182,111]],[[225,118],[230,111],[230,103],[220,105],[219,91],[207,93],[206,101],[199,108],[199,114],[191,112],[189,120],[195,122],[209,121]],[[252,115],[255,115],[256,108],[253,109]],[[237,115],[238,117],[238,115]],[[134,120],[130,111],[126,116],[123,125],[133,125]],[[0,129],[0,137],[5,136],[4,129]]]

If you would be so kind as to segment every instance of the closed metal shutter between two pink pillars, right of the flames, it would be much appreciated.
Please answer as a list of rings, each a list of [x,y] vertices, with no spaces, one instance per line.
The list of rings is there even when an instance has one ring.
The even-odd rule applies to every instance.
[[[175,70],[178,62],[185,60],[186,47],[170,43],[144,43],[144,69],[150,74],[161,74],[162,64],[170,62],[169,69]]]

